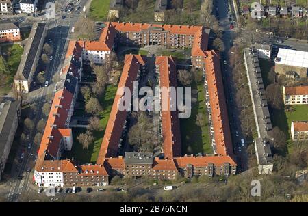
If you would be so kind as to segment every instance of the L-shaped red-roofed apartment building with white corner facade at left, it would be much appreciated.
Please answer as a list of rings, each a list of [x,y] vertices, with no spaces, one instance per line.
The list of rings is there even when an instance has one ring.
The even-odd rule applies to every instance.
[[[39,187],[103,186],[108,174],[103,165],[79,165],[63,160],[62,154],[73,146],[70,119],[81,81],[83,42],[70,41],[60,71],[61,80],[51,105],[36,161],[34,180]]]

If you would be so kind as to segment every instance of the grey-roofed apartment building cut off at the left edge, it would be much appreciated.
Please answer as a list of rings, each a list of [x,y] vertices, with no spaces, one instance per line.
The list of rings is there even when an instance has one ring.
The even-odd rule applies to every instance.
[[[0,97],[0,180],[21,118],[20,104],[12,98]]]

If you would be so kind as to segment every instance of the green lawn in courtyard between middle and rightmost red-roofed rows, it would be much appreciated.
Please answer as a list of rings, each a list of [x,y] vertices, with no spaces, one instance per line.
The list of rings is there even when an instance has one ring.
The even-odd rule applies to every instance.
[[[190,118],[181,119],[181,141],[183,154],[212,154],[211,141],[209,135],[208,114],[205,107],[205,90],[203,81],[192,83],[192,90],[198,90],[198,101],[192,104]],[[202,129],[196,124],[196,115],[203,113]]]

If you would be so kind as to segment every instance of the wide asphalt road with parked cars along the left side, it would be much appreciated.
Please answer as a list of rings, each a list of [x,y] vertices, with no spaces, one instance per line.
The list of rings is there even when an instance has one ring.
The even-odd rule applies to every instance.
[[[38,111],[35,115],[36,118],[34,120],[34,123],[37,123],[43,117],[41,108],[45,102],[44,96],[53,93],[53,91],[55,90],[55,83],[52,83],[52,77],[53,75],[55,75],[55,72],[60,72],[60,68],[64,62],[64,53],[67,49],[68,40],[70,40],[72,36],[71,29],[78,20],[80,12],[84,5],[86,5],[87,0],[66,0],[62,1],[62,5],[68,5],[68,3],[70,2],[72,2],[74,6],[79,5],[81,9],[78,11],[74,9],[72,13],[62,13],[64,14],[64,16],[66,16],[66,18],[64,19],[62,18],[62,14],[57,14],[55,19],[47,19],[46,21],[44,21],[44,23],[47,23],[47,36],[45,42],[49,42],[49,44],[53,46],[53,60],[49,63],[45,71],[46,80],[49,81],[51,85],[49,87],[41,87],[40,90],[37,90],[32,94],[30,92],[29,94],[29,100],[31,100],[31,103],[36,103],[36,105],[38,105]],[[37,20],[41,21],[41,18],[38,17],[33,21]],[[25,25],[31,25],[31,21],[26,21]],[[31,148],[25,153],[21,168],[18,172],[18,176],[23,176],[23,179],[18,180],[18,176],[15,176],[10,180],[11,187],[8,191],[8,200],[10,202],[18,202],[19,195],[21,195],[22,193],[27,193],[27,191],[33,189],[30,187],[30,185],[33,183],[31,179],[33,176],[32,172],[27,173],[26,170],[28,168],[33,170],[34,168],[36,151],[39,148],[39,146],[36,146],[33,143],[36,133],[37,131],[35,129],[30,135],[30,142],[32,143],[32,145]],[[19,157],[19,155],[16,155],[16,157]]]

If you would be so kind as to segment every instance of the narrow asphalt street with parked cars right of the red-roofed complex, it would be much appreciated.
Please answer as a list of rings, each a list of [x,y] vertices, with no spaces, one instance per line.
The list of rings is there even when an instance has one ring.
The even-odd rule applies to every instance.
[[[235,35],[236,29],[230,29],[229,20],[228,20],[228,11],[225,1],[216,1],[218,3],[218,20],[220,27],[224,31],[223,42],[224,42],[224,55],[222,56],[222,62],[224,59],[227,61],[227,64],[222,66],[222,77],[224,79],[224,92],[227,98],[227,107],[229,111],[229,121],[231,128],[231,136],[233,139],[233,150],[235,154],[240,158],[240,163],[238,163],[239,170],[246,170],[248,162],[248,154],[246,153],[245,148],[240,145],[240,139],[243,137],[240,131],[240,111],[235,106],[235,85],[231,81],[231,68],[229,66],[229,57],[227,53],[231,49],[232,41]],[[236,131],[238,134],[236,134]],[[241,152],[238,149],[241,148]]]

